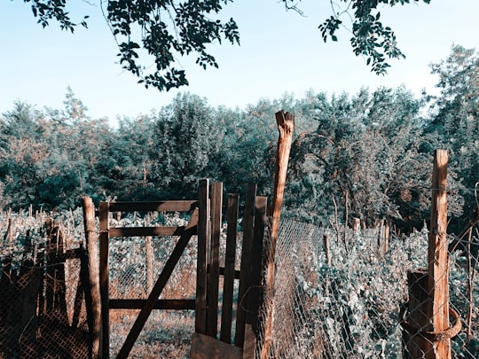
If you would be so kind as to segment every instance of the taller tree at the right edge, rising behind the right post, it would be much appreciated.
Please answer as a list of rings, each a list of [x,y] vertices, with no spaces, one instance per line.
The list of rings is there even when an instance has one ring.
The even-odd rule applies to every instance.
[[[428,97],[431,103],[431,118],[426,131],[431,144],[450,152],[450,166],[458,181],[452,187],[453,198],[464,199],[463,218],[452,220],[461,230],[477,208],[474,195],[475,183],[479,182],[479,53],[452,45],[449,57],[431,65],[432,74],[439,76],[436,87],[439,96]]]

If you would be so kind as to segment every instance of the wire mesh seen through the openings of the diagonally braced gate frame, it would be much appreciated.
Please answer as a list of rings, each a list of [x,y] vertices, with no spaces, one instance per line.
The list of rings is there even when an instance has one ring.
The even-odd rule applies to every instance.
[[[184,226],[179,215],[111,219],[112,226]],[[111,238],[109,292],[111,299],[146,299],[161,274],[179,237]],[[193,236],[177,262],[160,299],[194,299],[196,288],[197,238]],[[139,310],[110,310],[110,355],[115,357]],[[153,310],[133,346],[131,358],[187,358],[194,331],[194,310]]]

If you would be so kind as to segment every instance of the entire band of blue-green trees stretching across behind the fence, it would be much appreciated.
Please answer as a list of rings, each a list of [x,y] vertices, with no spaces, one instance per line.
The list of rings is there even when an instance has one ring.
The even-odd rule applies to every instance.
[[[428,219],[435,148],[450,151],[452,227],[476,207],[479,181],[479,57],[453,46],[431,66],[437,97],[404,89],[361,90],[261,100],[246,109],[178,96],[159,113],[124,118],[113,129],[88,116],[67,90],[62,110],[17,102],[0,117],[0,205],[46,210],[105,199],[190,199],[208,177],[227,191],[257,183],[270,196],[278,130],[274,113],[295,114],[285,214],[307,222],[367,224]]]

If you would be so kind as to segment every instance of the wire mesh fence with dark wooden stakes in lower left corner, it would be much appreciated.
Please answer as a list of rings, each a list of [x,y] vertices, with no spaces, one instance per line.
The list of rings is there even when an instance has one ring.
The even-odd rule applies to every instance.
[[[0,357],[89,355],[80,261],[81,217],[0,213]],[[0,238],[1,239],[1,238]],[[68,255],[70,254],[70,255]]]

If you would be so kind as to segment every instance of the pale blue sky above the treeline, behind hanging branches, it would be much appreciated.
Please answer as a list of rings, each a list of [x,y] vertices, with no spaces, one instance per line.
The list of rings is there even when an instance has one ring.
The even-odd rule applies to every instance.
[[[404,85],[416,95],[435,93],[437,79],[429,64],[446,59],[452,43],[479,51],[479,1],[431,0],[381,10],[383,24],[392,27],[406,59],[391,60],[389,74],[371,73],[357,58],[342,31],[337,43],[324,43],[318,25],[331,15],[327,0],[302,0],[303,15],[287,12],[279,0],[236,0],[221,17],[232,17],[240,27],[240,46],[211,44],[219,68],[179,59],[190,82],[169,92],[148,90],[122,70],[114,37],[97,0],[70,0],[72,20],[90,15],[89,28],[75,34],[36,24],[22,0],[0,2],[0,113],[20,100],[36,108],[62,109],[70,87],[88,107],[91,118],[136,118],[169,105],[178,93],[207,98],[208,104],[245,108],[263,98],[309,90],[355,94],[365,87]],[[145,64],[148,64],[148,59]],[[153,61],[150,61],[153,63]],[[287,110],[287,109],[285,109]]]

